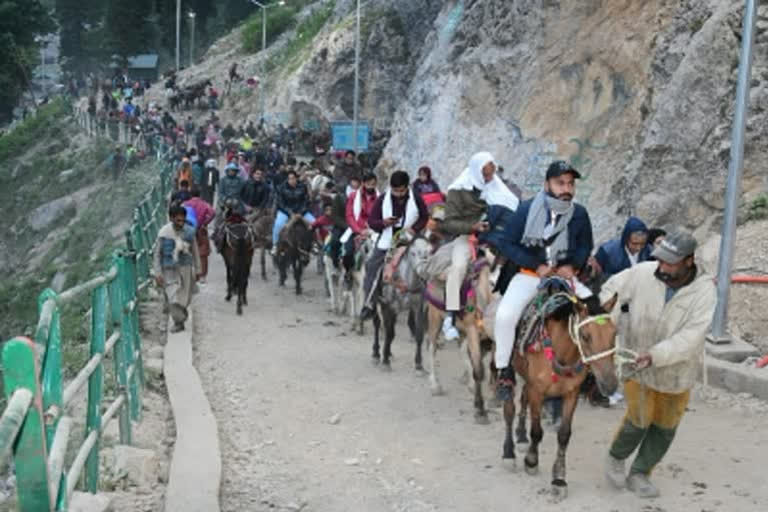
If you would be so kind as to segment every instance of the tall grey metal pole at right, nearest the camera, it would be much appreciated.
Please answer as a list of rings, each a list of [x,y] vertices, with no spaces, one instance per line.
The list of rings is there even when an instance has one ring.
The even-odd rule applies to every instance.
[[[741,37],[739,81],[736,86],[736,108],[733,116],[731,163],[728,168],[728,184],[725,189],[725,217],[723,237],[720,241],[720,262],[717,269],[717,307],[712,320],[709,341],[718,344],[731,342],[728,334],[728,302],[731,294],[731,270],[736,240],[736,216],[741,196],[741,175],[744,170],[744,132],[749,110],[749,85],[752,73],[752,54],[755,44],[757,0],[746,0],[744,27]]]

